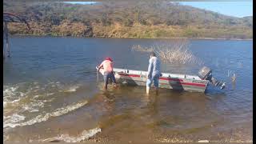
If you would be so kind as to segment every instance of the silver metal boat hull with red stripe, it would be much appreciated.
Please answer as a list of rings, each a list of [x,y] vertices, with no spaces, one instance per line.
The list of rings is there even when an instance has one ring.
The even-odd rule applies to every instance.
[[[114,69],[114,76],[118,83],[134,86],[146,86],[146,74],[146,71],[140,70]],[[204,93],[208,82],[196,75],[162,73],[162,77],[159,78],[159,88]]]

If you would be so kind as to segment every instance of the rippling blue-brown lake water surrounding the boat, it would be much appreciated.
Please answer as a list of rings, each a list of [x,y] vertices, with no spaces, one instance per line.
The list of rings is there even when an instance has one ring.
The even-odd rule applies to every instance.
[[[11,58],[3,60],[4,141],[252,141],[252,41],[190,40],[193,54],[226,82],[224,90],[210,84],[205,94],[160,90],[146,96],[146,87],[104,92],[102,77],[96,81],[95,66],[106,56],[116,68],[147,70],[149,55],[130,48],[166,41],[10,38]],[[169,73],[197,74],[201,67],[162,62]]]

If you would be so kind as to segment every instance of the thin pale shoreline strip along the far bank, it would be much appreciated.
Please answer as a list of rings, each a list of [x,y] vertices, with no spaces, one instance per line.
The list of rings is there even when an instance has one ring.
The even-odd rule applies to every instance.
[[[60,35],[52,35],[52,34],[12,34],[11,37],[15,36],[35,36],[35,37],[57,37],[57,38],[119,38],[119,37],[82,37],[82,36],[60,36]],[[139,37],[126,37],[126,38],[139,38]],[[139,38],[139,39],[194,39],[194,40],[231,40],[231,41],[252,41],[253,38],[186,38],[186,37],[175,37],[175,38]],[[122,39],[122,38],[120,38]]]

